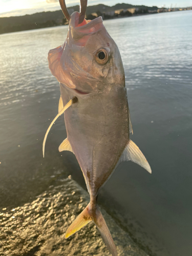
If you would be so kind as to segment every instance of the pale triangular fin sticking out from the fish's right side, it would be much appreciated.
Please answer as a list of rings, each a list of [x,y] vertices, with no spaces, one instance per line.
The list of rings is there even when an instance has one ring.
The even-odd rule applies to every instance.
[[[139,147],[132,140],[129,140],[117,165],[119,165],[123,161],[130,161],[130,160],[134,163],[139,164],[141,167],[146,169],[147,172],[149,172],[150,174],[152,173],[152,169],[148,164],[146,158],[144,157],[143,153],[140,151]]]

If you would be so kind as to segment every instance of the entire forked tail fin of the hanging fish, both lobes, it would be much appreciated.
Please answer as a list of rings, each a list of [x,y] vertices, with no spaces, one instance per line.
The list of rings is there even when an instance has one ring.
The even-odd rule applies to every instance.
[[[101,237],[112,256],[117,256],[115,243],[97,204],[94,206],[92,205],[91,207],[91,204],[89,203],[88,206],[84,208],[80,215],[67,229],[65,235],[66,239],[79,231],[82,227],[86,226],[91,221],[94,221],[95,225],[99,229]]]

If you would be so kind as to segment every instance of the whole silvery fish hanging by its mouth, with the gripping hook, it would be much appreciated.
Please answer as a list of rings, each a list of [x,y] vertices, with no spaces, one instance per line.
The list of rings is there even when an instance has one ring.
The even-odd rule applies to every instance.
[[[59,0],[69,20],[67,39],[48,53],[49,69],[60,84],[58,114],[64,113],[67,138],[59,152],[72,152],[82,170],[90,203],[66,231],[66,239],[93,221],[113,256],[117,249],[97,204],[101,187],[123,161],[133,161],[149,173],[151,167],[139,147],[130,139],[133,133],[125,74],[119,49],[106,31],[102,17],[86,20],[85,3],[71,16],[65,1]]]

